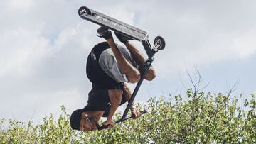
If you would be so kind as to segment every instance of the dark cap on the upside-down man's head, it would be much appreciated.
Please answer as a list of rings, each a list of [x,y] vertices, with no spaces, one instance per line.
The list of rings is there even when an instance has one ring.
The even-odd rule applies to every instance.
[[[80,130],[80,121],[82,117],[83,109],[77,109],[73,111],[70,116],[70,126],[73,130]]]

